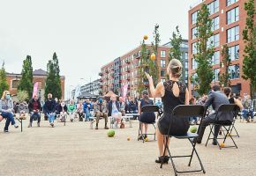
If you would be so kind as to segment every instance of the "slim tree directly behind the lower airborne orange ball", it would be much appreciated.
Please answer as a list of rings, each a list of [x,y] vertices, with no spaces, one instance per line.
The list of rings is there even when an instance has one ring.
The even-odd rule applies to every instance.
[[[160,40],[160,34],[159,34],[159,25],[154,26],[154,41],[151,42],[152,51],[155,55],[154,61],[149,62],[149,73],[153,77],[154,84],[157,84],[158,77],[159,77],[159,70],[158,70],[158,64],[157,64],[157,55],[158,55],[158,47],[161,42]],[[151,59],[150,59],[151,60]]]

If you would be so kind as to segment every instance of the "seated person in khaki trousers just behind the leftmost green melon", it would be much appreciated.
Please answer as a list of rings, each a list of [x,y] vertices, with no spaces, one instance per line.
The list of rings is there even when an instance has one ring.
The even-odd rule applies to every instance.
[[[100,118],[102,117],[105,120],[105,129],[108,128],[108,109],[106,102],[102,98],[99,98],[94,104],[94,117],[96,117],[96,128],[98,129]]]

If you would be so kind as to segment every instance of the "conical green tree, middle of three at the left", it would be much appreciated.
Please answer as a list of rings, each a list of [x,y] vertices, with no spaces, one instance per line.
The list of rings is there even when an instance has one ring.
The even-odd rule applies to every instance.
[[[23,61],[21,79],[19,81],[18,91],[25,91],[28,94],[28,98],[32,97],[33,93],[33,67],[30,55],[26,55],[26,59]]]

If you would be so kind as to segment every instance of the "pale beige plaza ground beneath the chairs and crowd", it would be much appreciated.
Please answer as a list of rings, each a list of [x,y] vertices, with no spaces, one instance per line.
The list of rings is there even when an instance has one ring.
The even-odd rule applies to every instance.
[[[0,123],[1,176],[174,175],[170,163],[162,169],[154,163],[158,156],[155,141],[137,141],[138,121],[132,128],[126,123],[124,129],[116,129],[113,138],[107,137],[102,121],[99,130],[90,129],[89,122],[67,122],[66,126],[58,122],[49,128],[47,121],[41,121],[41,128],[35,127],[36,122],[33,128],[26,128],[27,122],[22,133],[11,127],[8,134],[3,132],[4,121]],[[256,123],[237,121],[236,126],[241,136],[235,137],[238,149],[219,150],[211,143],[206,148],[206,136],[197,146],[205,175],[255,175]],[[170,150],[173,154],[191,152],[188,141],[177,139],[171,139]],[[178,169],[184,169],[188,159],[178,158],[176,163]],[[192,163],[192,168],[197,166],[197,161]]]

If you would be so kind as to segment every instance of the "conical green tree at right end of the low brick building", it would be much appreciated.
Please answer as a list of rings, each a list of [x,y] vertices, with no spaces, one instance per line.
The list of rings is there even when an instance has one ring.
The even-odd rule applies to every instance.
[[[60,69],[56,53],[53,54],[52,60],[47,64],[47,78],[45,83],[45,99],[48,93],[51,93],[53,98],[61,99],[61,80],[59,75]]]

